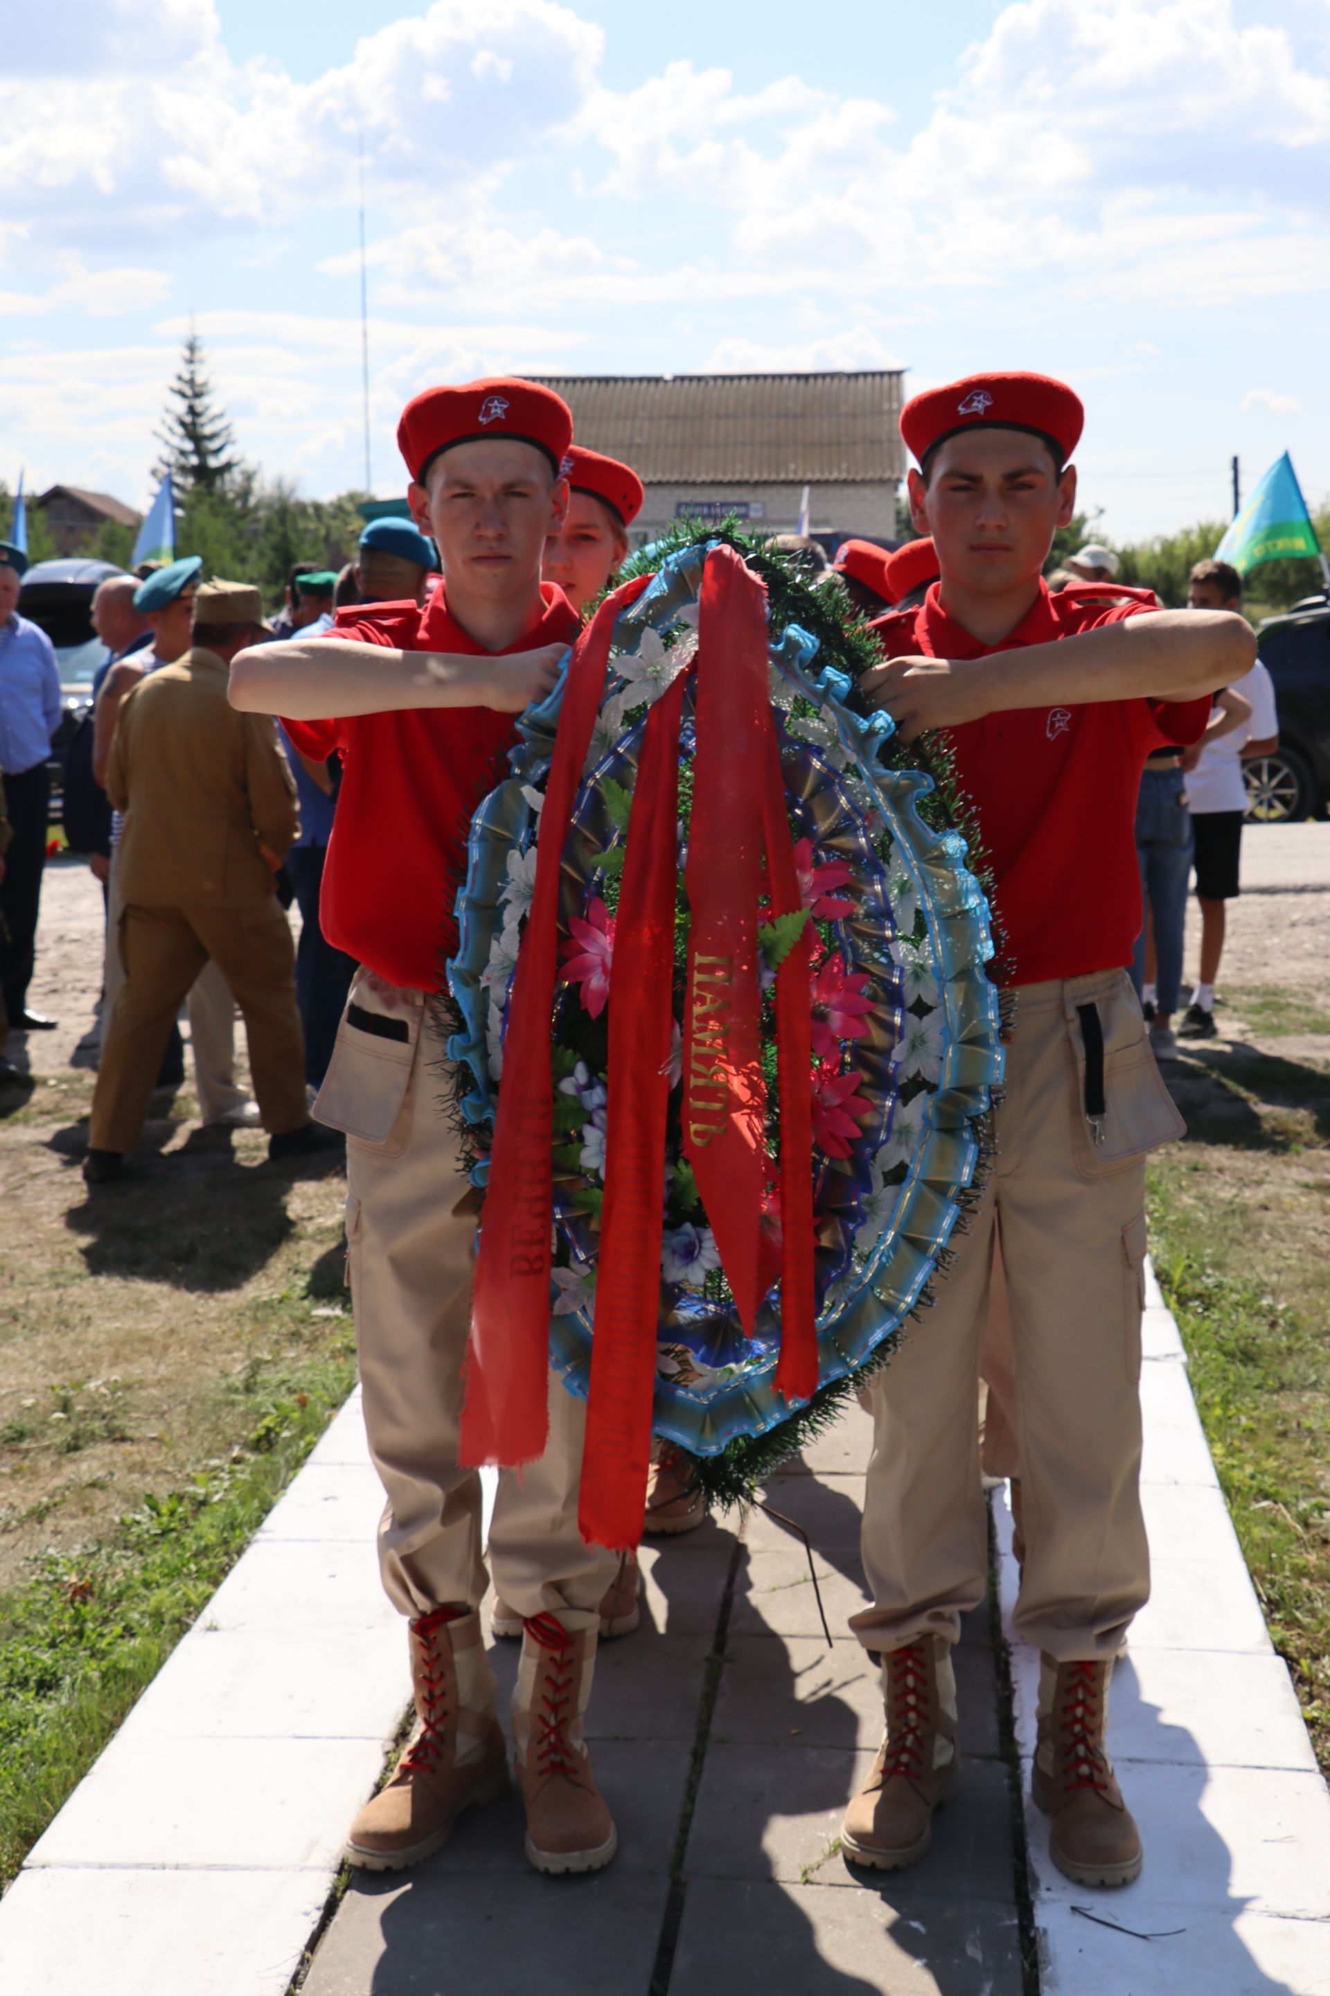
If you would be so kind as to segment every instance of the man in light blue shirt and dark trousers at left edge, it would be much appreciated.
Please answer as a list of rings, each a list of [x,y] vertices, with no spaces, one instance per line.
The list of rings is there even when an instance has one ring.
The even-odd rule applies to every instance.
[[[12,840],[0,880],[0,1000],[14,1032],[54,1018],[28,1010],[50,820],[52,737],[60,727],[60,667],[46,631],[18,615],[28,557],[0,541],[0,772]]]

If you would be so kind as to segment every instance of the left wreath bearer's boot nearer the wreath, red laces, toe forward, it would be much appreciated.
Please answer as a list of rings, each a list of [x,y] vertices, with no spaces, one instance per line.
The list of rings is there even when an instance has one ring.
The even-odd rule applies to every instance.
[[[568,1635],[554,1615],[524,1623],[512,1741],[526,1802],[526,1856],[540,1872],[600,1870],[618,1850],[582,1739],[594,1661],[594,1629]]]

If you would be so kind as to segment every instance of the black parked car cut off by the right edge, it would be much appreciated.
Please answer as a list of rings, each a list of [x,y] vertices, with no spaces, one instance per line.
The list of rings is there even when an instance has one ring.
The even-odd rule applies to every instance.
[[[1248,818],[1326,816],[1330,804],[1330,601],[1308,597],[1268,617],[1256,647],[1274,681],[1280,745],[1244,762]]]

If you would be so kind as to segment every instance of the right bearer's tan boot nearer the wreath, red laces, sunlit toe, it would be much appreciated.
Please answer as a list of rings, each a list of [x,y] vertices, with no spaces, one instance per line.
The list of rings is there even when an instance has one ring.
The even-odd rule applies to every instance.
[[[881,1659],[887,1731],[873,1770],[845,1810],[841,1850],[853,1864],[903,1870],[933,1842],[933,1810],[961,1784],[951,1645],[919,1637]]]

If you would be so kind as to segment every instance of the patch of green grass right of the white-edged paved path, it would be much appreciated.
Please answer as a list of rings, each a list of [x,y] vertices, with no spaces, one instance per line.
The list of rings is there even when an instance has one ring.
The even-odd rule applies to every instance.
[[[1300,1006],[1260,998],[1280,1018]],[[1256,1026],[1248,996],[1242,1016]],[[1278,1030],[1308,1028],[1262,1034]],[[1184,1104],[1188,1140],[1151,1166],[1153,1255],[1270,1639],[1330,1772],[1330,1076],[1252,1052],[1234,1080],[1222,1062],[1210,1100]]]

